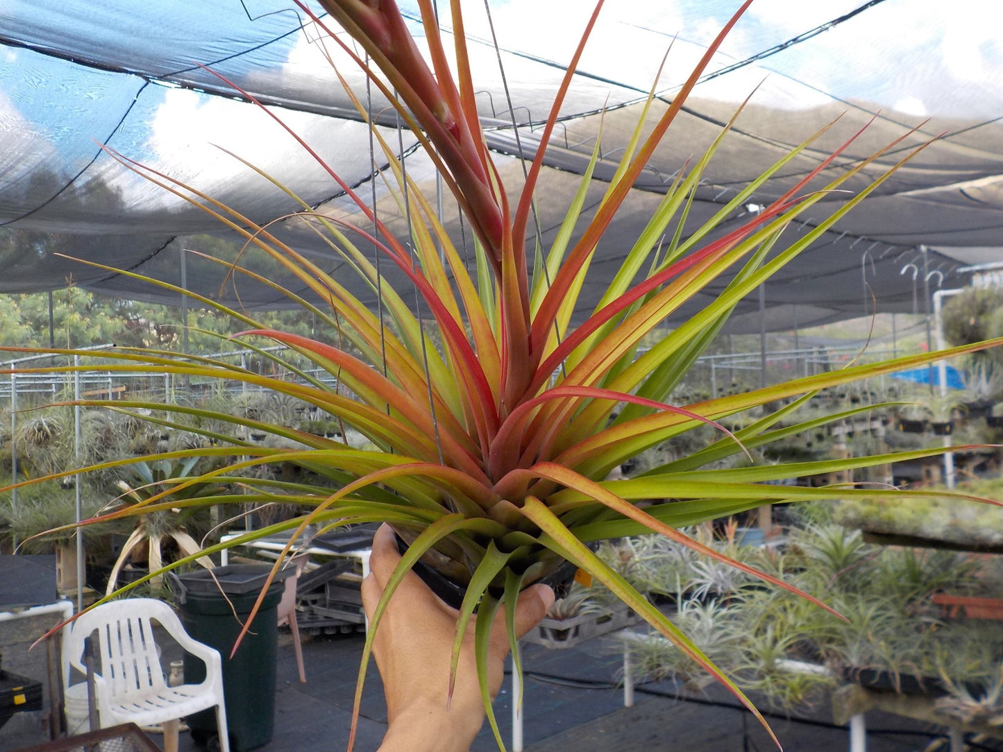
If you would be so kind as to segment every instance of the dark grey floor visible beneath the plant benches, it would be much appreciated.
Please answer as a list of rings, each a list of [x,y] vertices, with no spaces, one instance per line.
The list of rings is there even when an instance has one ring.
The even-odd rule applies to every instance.
[[[300,684],[292,637],[280,634],[274,732],[272,740],[259,748],[261,752],[346,749],[361,650],[362,636],[357,633],[306,637],[303,652],[307,683]],[[624,708],[623,692],[617,686],[621,657],[616,643],[609,638],[598,638],[571,650],[548,650],[536,645],[524,645],[523,650],[529,672],[524,707],[526,752],[775,749],[755,719],[732,707],[733,699],[716,687],[706,695],[685,701],[672,697],[675,688],[671,685],[649,684],[640,688],[635,707]],[[173,649],[169,647],[164,662],[172,658]],[[511,700],[507,680],[495,712],[510,747]],[[28,717],[31,714],[23,715],[26,717],[15,716],[17,723],[12,719],[8,724],[11,728],[0,730],[0,751],[45,740],[39,719],[32,723]],[[382,687],[373,667],[363,695],[355,749],[375,750],[385,731],[385,721]],[[849,748],[849,732],[830,726],[827,708],[818,709],[807,721],[781,717],[770,722],[788,751],[844,752]],[[868,715],[868,752],[920,752],[937,738],[933,727],[880,713]],[[159,736],[151,738],[162,745]],[[199,749],[190,733],[182,734],[181,752]],[[488,729],[481,732],[471,750],[497,750]]]

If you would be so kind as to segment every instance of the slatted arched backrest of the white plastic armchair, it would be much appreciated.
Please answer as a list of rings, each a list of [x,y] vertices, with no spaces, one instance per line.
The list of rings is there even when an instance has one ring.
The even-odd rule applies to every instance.
[[[85,671],[83,641],[96,632],[100,670],[95,668],[95,673],[103,679],[111,697],[163,689],[150,620],[172,634],[183,630],[170,606],[148,598],[112,601],[82,614],[73,623],[65,646],[69,662],[77,671]]]

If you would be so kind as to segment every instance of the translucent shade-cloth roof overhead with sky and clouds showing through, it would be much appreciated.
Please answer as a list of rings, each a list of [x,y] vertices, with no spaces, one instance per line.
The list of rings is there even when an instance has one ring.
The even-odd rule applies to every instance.
[[[597,147],[587,205],[599,201],[666,50],[655,110],[671,100],[737,5],[608,3],[548,150],[539,195],[545,243],[555,237]],[[404,0],[401,7],[417,18],[416,3]],[[475,4],[466,31],[488,144],[511,186],[519,184],[518,156],[535,148],[536,126],[547,116],[591,8],[560,0],[491,0],[490,8],[499,52]],[[759,296],[744,301],[732,331],[758,330],[761,315],[768,329],[779,330],[872,313],[876,304],[879,311],[922,312],[925,288],[962,286],[968,281],[964,267],[1003,258],[997,249],[1003,245],[1001,26],[1003,6],[984,0],[756,0],[656,151],[621,221],[603,239],[596,269],[612,274],[666,185],[751,94],[705,168],[684,237],[833,120],[731,219],[780,196],[868,122],[838,168],[905,139],[852,178],[855,190],[911,147],[939,137],[771,280],[762,291],[762,314]],[[419,24],[414,30],[420,36]],[[5,0],[0,43],[6,63],[0,68],[0,292],[73,281],[118,296],[175,302],[175,293],[57,254],[181,284],[179,259],[186,250],[215,253],[228,235],[236,237],[206,212],[122,167],[99,144],[257,223],[286,217],[297,206],[248,163],[308,205],[358,221],[336,183],[249,96],[279,114],[348,184],[375,195],[385,219],[394,212],[381,180],[370,179],[367,126],[326,57],[335,58],[367,102],[364,80],[293,2]],[[385,101],[371,98],[368,106],[386,137],[407,154],[408,175],[434,196],[434,172],[414,139],[405,133],[398,140]],[[826,197],[786,237],[796,238],[849,200],[842,193]],[[442,207],[457,243],[469,242],[454,203],[445,199]],[[390,224],[404,227],[399,219]],[[276,227],[284,241],[351,284],[354,273],[305,223],[285,220]],[[274,289],[250,280],[234,290],[225,270],[200,259],[186,266],[188,289],[250,307],[279,301]],[[359,295],[372,300],[364,289]]]

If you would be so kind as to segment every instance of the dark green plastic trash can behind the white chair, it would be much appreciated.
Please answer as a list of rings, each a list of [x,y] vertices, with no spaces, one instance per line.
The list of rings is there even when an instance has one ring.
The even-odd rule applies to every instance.
[[[223,659],[223,694],[234,752],[268,744],[275,730],[276,608],[282,600],[283,581],[294,576],[295,569],[279,573],[251,630],[237,653],[230,655],[271,571],[268,565],[233,565],[180,575],[173,584],[185,630],[220,651]],[[205,678],[205,664],[186,654],[185,683]],[[213,710],[189,716],[188,724],[196,741],[209,744],[218,737]]]

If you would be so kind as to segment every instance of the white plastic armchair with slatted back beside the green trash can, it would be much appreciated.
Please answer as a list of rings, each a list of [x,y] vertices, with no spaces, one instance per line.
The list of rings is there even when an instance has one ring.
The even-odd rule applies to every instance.
[[[155,621],[186,651],[206,663],[201,684],[169,687],[157,657],[150,621]],[[100,671],[95,668],[94,695],[102,727],[132,722],[162,724],[165,752],[177,752],[180,719],[216,707],[221,752],[230,752],[223,696],[223,664],[218,651],[189,637],[181,620],[164,603],[148,598],[125,599],[98,606],[79,616],[64,644],[64,664],[86,673],[84,640],[97,633]],[[68,681],[68,666],[64,666]]]

